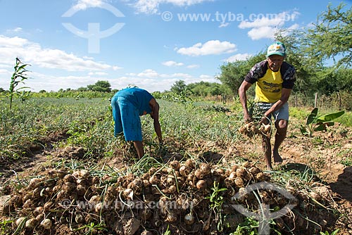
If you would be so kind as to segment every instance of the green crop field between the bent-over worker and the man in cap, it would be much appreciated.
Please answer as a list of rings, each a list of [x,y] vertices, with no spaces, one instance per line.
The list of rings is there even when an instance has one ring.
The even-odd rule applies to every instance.
[[[188,145],[199,141],[230,142],[238,138],[237,129],[241,122],[222,111],[205,108],[211,103],[159,103],[161,127],[166,138],[187,142]],[[143,117],[142,120],[145,136],[153,138],[151,118]]]

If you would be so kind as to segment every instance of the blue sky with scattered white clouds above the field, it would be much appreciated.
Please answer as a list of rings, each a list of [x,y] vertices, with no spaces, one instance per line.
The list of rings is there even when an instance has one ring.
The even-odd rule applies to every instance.
[[[219,82],[220,65],[264,51],[279,28],[310,27],[329,3],[341,1],[0,0],[0,87],[16,57],[32,91]]]

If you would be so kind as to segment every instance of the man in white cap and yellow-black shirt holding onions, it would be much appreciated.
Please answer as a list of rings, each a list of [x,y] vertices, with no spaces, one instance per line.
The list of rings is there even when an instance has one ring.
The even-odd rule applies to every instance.
[[[271,151],[270,137],[265,134],[263,138],[263,151],[265,164],[272,170],[271,155],[274,163],[281,163],[279,146],[287,134],[289,121],[289,105],[287,101],[296,81],[296,71],[293,65],[284,61],[286,47],[281,42],[275,42],[268,47],[266,60],[256,63],[246,75],[239,87],[239,99],[244,109],[244,120],[251,122],[251,113],[247,108],[246,91],[256,83],[255,106],[263,113],[260,123],[268,124],[274,118],[276,133],[275,144]]]

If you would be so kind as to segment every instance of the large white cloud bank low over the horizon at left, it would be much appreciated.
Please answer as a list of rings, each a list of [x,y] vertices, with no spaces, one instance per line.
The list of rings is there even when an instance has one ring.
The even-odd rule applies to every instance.
[[[13,72],[15,58],[32,66],[25,80],[25,87],[32,91],[58,91],[58,89],[78,89],[94,84],[98,80],[110,82],[113,89],[122,89],[128,84],[136,84],[149,91],[164,91],[170,89],[177,80],[185,82],[216,81],[211,76],[190,75],[187,73],[158,73],[147,69],[142,72],[131,72],[118,75],[120,67],[103,62],[96,62],[92,57],[80,57],[58,49],[45,49],[40,44],[30,42],[20,37],[5,37],[0,35],[0,87],[8,89]],[[166,61],[168,62],[168,61]],[[175,61],[174,61],[175,62]],[[173,64],[173,63],[167,63]],[[180,65],[180,63],[175,62]],[[199,65],[189,65],[188,68],[198,68]]]

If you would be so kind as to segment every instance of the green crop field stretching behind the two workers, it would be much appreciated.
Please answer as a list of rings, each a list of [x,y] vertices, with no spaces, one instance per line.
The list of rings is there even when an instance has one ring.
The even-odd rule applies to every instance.
[[[158,100],[160,121],[167,146],[188,151],[207,142],[226,146],[239,139],[237,129],[243,122],[239,104],[225,107],[213,102],[175,103]],[[113,118],[106,98],[32,98],[15,100],[13,108],[0,99],[0,154],[4,160],[21,158],[48,143],[58,146],[81,146],[88,156],[112,155],[123,140],[113,136]],[[230,112],[229,112],[230,110]],[[310,110],[290,108],[291,117],[302,124]],[[144,143],[156,149],[158,141],[153,120],[143,116]],[[342,115],[338,122],[352,126],[352,114]],[[64,138],[59,137],[64,136]]]

